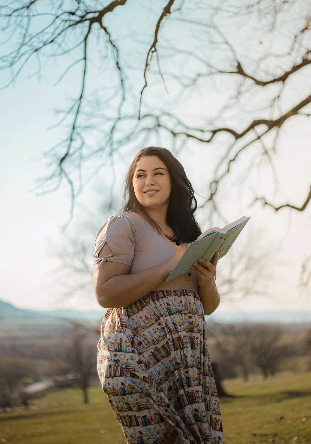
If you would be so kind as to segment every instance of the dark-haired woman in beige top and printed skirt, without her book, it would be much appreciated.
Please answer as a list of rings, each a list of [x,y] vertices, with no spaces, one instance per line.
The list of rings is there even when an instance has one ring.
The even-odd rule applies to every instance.
[[[204,321],[219,304],[217,254],[166,282],[201,234],[194,190],[170,151],[148,147],[129,167],[124,199],[95,240],[94,292],[109,307],[102,389],[127,443],[224,444]]]

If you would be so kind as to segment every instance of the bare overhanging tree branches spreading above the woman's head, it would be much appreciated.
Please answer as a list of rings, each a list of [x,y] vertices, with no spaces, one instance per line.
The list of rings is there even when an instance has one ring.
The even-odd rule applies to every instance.
[[[42,57],[73,58],[55,86],[74,70],[81,69],[82,81],[77,96],[66,109],[56,110],[60,119],[49,127],[55,129],[62,125],[67,135],[44,152],[51,170],[37,178],[33,189],[42,196],[59,190],[64,183],[69,186],[70,214],[63,230],[73,218],[74,202],[83,189],[85,163],[96,160],[89,177],[83,178],[84,184],[107,165],[113,170],[114,183],[114,157],[122,158],[123,147],[136,149],[154,139],[159,144],[170,140],[174,152],[178,153],[192,144],[198,150],[211,151],[219,138],[224,140],[218,163],[208,179],[209,195],[200,205],[201,208],[210,205],[214,214],[221,214],[217,196],[225,178],[234,175],[232,166],[238,164],[246,152],[253,153],[254,165],[262,169],[268,161],[277,184],[275,154],[284,124],[297,119],[303,121],[311,115],[311,87],[307,83],[311,64],[311,15],[307,10],[303,17],[295,15],[292,8],[296,7],[296,0],[242,1],[239,5],[232,5],[228,0],[212,5],[207,0],[148,2],[148,10],[156,20],[148,31],[143,26],[129,29],[126,39],[120,37],[120,27],[123,23],[128,25],[130,4],[126,0],[105,5],[77,1],[71,7],[64,1],[53,1],[43,10],[41,5],[42,0],[13,0],[0,6],[0,20],[6,34],[4,43],[10,43],[7,53],[2,52],[0,56],[0,69],[10,74],[0,90],[16,83],[32,56],[36,58],[37,70],[31,75],[38,79],[43,75]],[[141,14],[138,23],[144,24],[145,5],[141,9],[135,6]],[[112,20],[112,17],[118,18]],[[258,54],[244,53],[234,43],[230,26],[244,28],[243,25],[246,27],[246,22],[251,20],[267,42],[278,35],[282,40],[282,52],[267,44]],[[89,56],[90,41],[97,34],[104,36],[100,56],[103,67],[100,68]],[[124,41],[130,39],[134,50],[129,54]],[[72,40],[74,43],[69,43]],[[260,41],[258,45],[263,48],[263,43]],[[157,69],[151,67],[153,54]],[[90,63],[103,71],[104,80],[92,97],[86,97],[85,91],[91,81],[86,75]],[[137,91],[132,78],[136,72],[144,79]],[[111,73],[115,74],[113,80]],[[209,109],[200,104],[197,116],[187,114],[185,103],[193,104],[200,96],[208,102],[210,88],[217,89],[218,82],[226,81],[224,79],[229,80],[226,83],[230,88],[223,94],[221,106]],[[299,79],[306,79],[304,88],[299,94],[295,91],[289,99],[289,92],[293,84],[299,85]],[[261,99],[262,91],[267,97],[265,101]],[[148,103],[150,97],[151,103]],[[293,116],[295,120],[291,119]],[[98,140],[97,145],[92,136]],[[250,169],[245,171],[246,176],[249,172]],[[112,190],[113,184],[110,193]],[[259,190],[257,194],[263,193]],[[288,207],[302,212],[309,204],[310,194],[300,207],[289,203],[277,206],[265,196],[255,197],[251,205],[257,201],[276,211]]]

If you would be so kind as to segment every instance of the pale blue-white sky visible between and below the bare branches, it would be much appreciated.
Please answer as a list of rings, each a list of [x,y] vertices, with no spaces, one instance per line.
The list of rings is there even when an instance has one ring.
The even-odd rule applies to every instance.
[[[142,15],[135,14],[133,9],[130,9],[128,13],[132,18],[132,28],[142,23]],[[109,24],[113,26],[113,20],[117,23],[121,20],[122,17],[120,17],[121,11],[120,16],[109,19]],[[148,20],[154,22],[156,18],[154,11],[149,11],[148,17]],[[147,29],[148,21],[146,20],[144,24]],[[121,38],[123,28],[118,29]],[[170,36],[170,31],[166,29],[166,32],[168,33],[166,36]],[[240,42],[241,52],[250,51],[250,38],[243,38],[246,37],[249,28],[243,32],[245,34],[241,36],[232,30],[232,33],[228,31],[227,35],[230,36],[230,41]],[[253,32],[253,43],[263,40],[262,33],[263,31],[260,30]],[[124,44],[125,48],[129,47],[127,40]],[[263,40],[263,44],[267,48],[268,40]],[[5,44],[5,48],[8,50],[9,44]],[[137,45],[133,45],[133,51],[136,49],[141,55],[137,48]],[[258,51],[263,53],[264,48],[260,46]],[[126,55],[129,56],[128,52]],[[99,60],[102,57],[96,45],[92,48],[92,56],[98,57]],[[174,61],[168,60],[167,63],[174,63]],[[36,195],[35,192],[36,179],[48,175],[50,171],[43,152],[67,135],[64,127],[49,129],[59,121],[59,117],[54,114],[53,110],[68,105],[66,98],[69,94],[77,95],[81,85],[81,70],[74,68],[54,86],[66,66],[65,59],[58,60],[57,63],[50,60],[47,66],[43,65],[42,77],[38,81],[36,76],[28,77],[30,73],[36,71],[36,60],[31,59],[16,83],[0,90],[2,109],[5,110],[0,120],[2,144],[0,175],[2,294],[0,299],[19,308],[72,308],[102,311],[93,293],[91,275],[89,280],[86,279],[86,286],[82,291],[66,297],[63,280],[55,271],[62,267],[63,262],[53,252],[51,242],[59,250],[62,250],[63,246],[66,250],[67,239],[61,232],[61,226],[69,217],[68,186],[62,184],[57,191],[41,196]],[[92,91],[97,84],[101,85],[102,78],[95,69],[90,68],[88,91]],[[306,88],[310,91],[309,78],[310,75],[307,77],[307,70],[305,70],[298,83],[294,79],[292,88],[285,96],[286,100],[299,100],[299,95],[305,94]],[[2,71],[0,85],[3,86],[7,79],[8,77]],[[141,87],[141,82],[141,72],[135,71],[133,84],[137,90]],[[222,84],[222,82],[226,81],[219,80],[217,87],[211,87],[210,83],[206,83],[205,95],[198,91],[197,95],[193,94],[190,98],[185,98],[181,115],[182,113],[191,115],[195,121],[203,117],[207,119],[216,113],[219,104],[222,103],[224,91],[226,92],[229,87],[227,83]],[[208,106],[206,106],[206,97]],[[155,95],[154,103],[161,104],[162,99],[165,101],[165,96]],[[244,104],[238,116],[239,124],[246,119],[247,113],[247,104]],[[234,248],[218,262],[216,282],[221,295],[218,312],[311,310],[310,296],[299,287],[301,265],[310,254],[311,247],[310,204],[304,212],[284,209],[277,213],[260,204],[249,206],[254,190],[257,190],[260,195],[266,195],[276,204],[292,202],[300,206],[307,197],[311,164],[310,122],[308,124],[307,120],[294,121],[294,119],[285,126],[279,140],[278,152],[274,157],[279,178],[277,192],[271,169],[267,166],[261,170],[254,169],[247,182],[240,178],[242,172],[254,162],[254,151],[249,151],[241,157],[233,167],[233,175],[228,176],[222,186],[218,202],[223,218],[219,219],[219,216],[215,214],[212,217],[213,226],[222,227],[241,216],[250,216],[250,221],[246,224]],[[151,145],[152,141],[150,139],[148,145]],[[170,149],[170,139],[164,138],[163,142],[165,144],[162,146]],[[213,147],[206,149],[191,141],[187,149],[178,155],[178,160],[185,167],[186,174],[194,187],[199,204],[208,195],[208,180],[213,167],[222,155],[223,143],[224,139],[219,138]],[[113,214],[121,208],[122,182],[129,163],[140,148],[133,150],[132,147],[124,146],[123,155],[115,159],[117,173],[113,188],[115,202]],[[87,170],[92,171],[94,165],[96,165],[96,159],[88,164]],[[104,165],[93,177],[90,177],[89,173],[85,174],[84,178],[86,177],[88,180],[85,180],[83,192],[77,198],[74,218],[67,233],[73,237],[76,236],[79,241],[82,239],[89,243],[90,253],[86,260],[92,266],[95,235],[111,215],[103,211],[101,205],[105,202],[105,191],[114,179],[111,165]],[[206,210],[198,210],[196,218],[202,231],[210,228],[210,214],[207,214]],[[85,222],[90,222],[93,232],[86,230],[83,225]],[[259,261],[261,256],[263,258]],[[249,258],[253,262],[250,262]],[[234,275],[235,280],[238,281],[238,290],[232,293],[229,291],[227,294],[225,281],[232,263],[235,264],[236,269],[241,270]],[[247,266],[250,263],[252,266]],[[74,285],[76,279],[77,277],[69,276],[68,285]],[[241,296],[243,285],[254,289],[244,298]],[[223,297],[222,290],[226,293]]]

